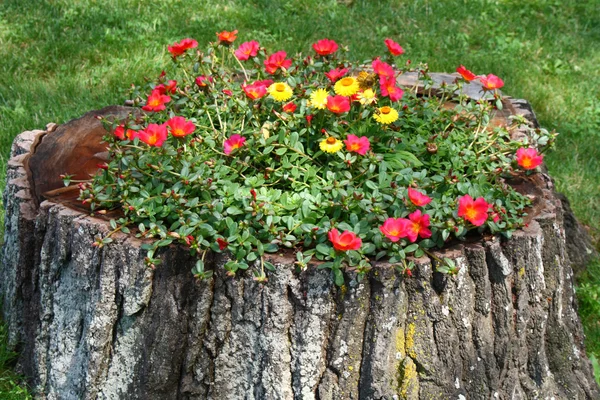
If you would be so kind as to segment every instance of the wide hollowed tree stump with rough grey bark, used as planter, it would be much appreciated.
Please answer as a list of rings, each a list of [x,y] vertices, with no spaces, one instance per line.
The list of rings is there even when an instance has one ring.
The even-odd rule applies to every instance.
[[[508,105],[535,123],[526,102]],[[150,270],[139,240],[92,247],[108,222],[53,197],[58,174],[87,177],[103,156],[89,148],[102,135],[93,115],[22,133],[8,165],[3,315],[39,398],[600,399],[570,262],[587,250],[567,246],[584,242],[565,231],[545,175],[523,231],[441,252],[456,276],[421,258],[412,277],[378,264],[340,290],[328,271],[297,273],[279,255],[264,285],[225,277],[220,257],[196,283],[186,249]],[[85,139],[74,149],[69,135]]]

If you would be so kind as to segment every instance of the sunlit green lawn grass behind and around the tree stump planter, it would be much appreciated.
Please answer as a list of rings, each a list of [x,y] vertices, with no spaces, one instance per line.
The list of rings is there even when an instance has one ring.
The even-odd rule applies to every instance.
[[[19,132],[121,104],[129,84],[168,68],[166,45],[184,37],[202,43],[238,29],[239,42],[256,39],[290,53],[328,37],[365,60],[382,53],[383,39],[391,37],[405,48],[405,59],[427,61],[433,71],[464,64],[494,73],[505,80],[505,93],[529,100],[542,126],[561,132],[546,162],[598,244],[598,10],[598,0],[4,0],[0,165]],[[597,276],[598,267],[590,268]],[[593,272],[580,288],[582,304],[597,302]],[[584,323],[588,348],[600,358],[594,313]]]

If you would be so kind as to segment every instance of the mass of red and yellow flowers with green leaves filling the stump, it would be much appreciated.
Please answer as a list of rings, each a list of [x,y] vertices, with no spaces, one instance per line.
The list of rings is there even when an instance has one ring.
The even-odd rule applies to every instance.
[[[529,200],[507,180],[535,173],[555,134],[517,142],[522,118],[490,125],[500,78],[460,66],[428,95],[398,85],[409,71],[425,89],[431,80],[424,64],[398,66],[404,50],[391,39],[365,65],[329,39],[288,57],[256,41],[235,46],[236,35],[218,33],[204,51],[192,39],[169,46],[174,71],[132,89],[145,112],[109,127],[110,162],[80,184],[93,212],[123,211],[113,232],[156,238],[149,266],[158,248],[179,242],[198,255],[198,278],[211,274],[211,250],[231,254],[229,275],[252,268],[264,281],[274,268],[265,253],[289,248],[300,268],[316,257],[341,285],[344,269],[360,278],[387,259],[409,270],[408,256],[469,231],[510,236],[522,226]],[[472,80],[492,101],[462,93]]]

